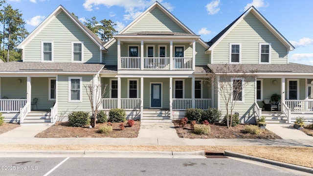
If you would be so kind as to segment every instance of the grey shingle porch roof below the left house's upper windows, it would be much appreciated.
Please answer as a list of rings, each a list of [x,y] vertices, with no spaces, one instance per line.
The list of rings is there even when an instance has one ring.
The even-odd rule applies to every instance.
[[[6,62],[0,64],[0,72],[72,72],[98,73],[103,64],[86,63],[35,63],[35,62]]]

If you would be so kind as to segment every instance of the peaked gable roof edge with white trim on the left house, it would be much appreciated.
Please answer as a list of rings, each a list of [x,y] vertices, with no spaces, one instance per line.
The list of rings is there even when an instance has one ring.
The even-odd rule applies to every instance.
[[[92,31],[89,30],[83,23],[78,19],[73,17],[70,12],[67,11],[62,5],[59,5],[43,22],[41,22],[23,41],[18,45],[19,49],[23,49],[26,44],[28,44],[40,31],[42,31],[45,26],[51,22],[60,12],[64,12],[69,19],[71,19],[95,44],[97,44],[101,50],[107,51],[103,47],[104,42],[99,39]]]

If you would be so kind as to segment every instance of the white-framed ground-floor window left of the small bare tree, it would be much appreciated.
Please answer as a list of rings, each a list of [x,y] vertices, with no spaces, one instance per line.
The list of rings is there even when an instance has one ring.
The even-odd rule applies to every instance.
[[[82,77],[69,77],[68,87],[68,101],[82,102]]]

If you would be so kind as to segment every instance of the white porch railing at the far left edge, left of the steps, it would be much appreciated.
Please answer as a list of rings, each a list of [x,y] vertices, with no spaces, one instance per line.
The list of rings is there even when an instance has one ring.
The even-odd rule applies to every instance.
[[[0,99],[0,112],[19,112],[26,102],[26,99]]]

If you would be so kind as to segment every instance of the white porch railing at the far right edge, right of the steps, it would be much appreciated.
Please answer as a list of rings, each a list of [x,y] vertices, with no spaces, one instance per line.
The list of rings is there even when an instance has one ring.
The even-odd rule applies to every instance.
[[[313,112],[312,100],[286,100],[286,105],[291,112]]]

